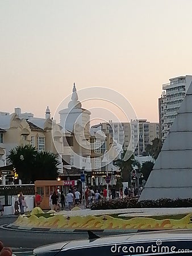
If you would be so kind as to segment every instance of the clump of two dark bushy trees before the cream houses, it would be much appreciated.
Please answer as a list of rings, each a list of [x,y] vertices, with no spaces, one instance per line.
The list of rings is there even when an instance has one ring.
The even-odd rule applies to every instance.
[[[58,176],[58,155],[47,151],[38,152],[29,144],[12,148],[7,160],[25,184],[34,183],[35,180],[55,180]]]

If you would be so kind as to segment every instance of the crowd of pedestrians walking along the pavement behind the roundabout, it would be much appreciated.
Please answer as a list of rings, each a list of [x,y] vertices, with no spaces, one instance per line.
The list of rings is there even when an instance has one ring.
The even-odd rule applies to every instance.
[[[106,186],[99,185],[97,187],[89,187],[80,189],[78,191],[77,187],[70,187],[66,195],[64,195],[63,191],[53,191],[49,196],[49,208],[58,212],[59,210],[64,210],[64,208],[68,208],[72,210],[73,207],[78,207],[83,205],[85,208],[90,208],[93,203],[105,202],[106,200],[115,199],[118,197],[119,199],[123,199],[124,197],[136,197],[139,196],[143,188],[128,188],[126,187],[118,189],[116,191],[115,186],[108,187],[108,195]],[[35,193],[35,207],[41,208],[41,201],[43,198],[39,193]],[[22,192],[19,193],[18,199],[15,200],[14,204],[15,215],[24,214],[27,211],[26,200]],[[3,205],[0,201],[0,216],[3,215]]]

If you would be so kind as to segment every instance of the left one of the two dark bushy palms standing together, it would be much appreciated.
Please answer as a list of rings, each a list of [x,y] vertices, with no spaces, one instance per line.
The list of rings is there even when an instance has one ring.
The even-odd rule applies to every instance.
[[[19,175],[19,179],[25,184],[32,181],[36,155],[36,148],[25,144],[12,148],[9,156],[7,156],[8,162],[12,163],[15,171]]]

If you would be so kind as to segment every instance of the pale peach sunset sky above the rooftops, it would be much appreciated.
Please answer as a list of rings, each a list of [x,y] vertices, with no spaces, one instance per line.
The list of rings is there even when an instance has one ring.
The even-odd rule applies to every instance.
[[[192,74],[191,10],[191,0],[1,0],[0,111],[53,115],[76,82],[158,122],[162,84]]]

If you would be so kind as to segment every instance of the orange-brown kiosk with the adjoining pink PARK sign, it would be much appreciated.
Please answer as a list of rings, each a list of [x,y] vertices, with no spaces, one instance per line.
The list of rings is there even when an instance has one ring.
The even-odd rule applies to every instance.
[[[76,180],[36,180],[35,192],[39,193],[42,197],[41,209],[50,209],[49,197],[55,191],[59,193],[63,191],[66,195],[70,188],[77,185]]]

